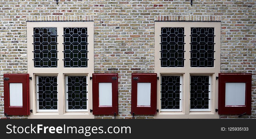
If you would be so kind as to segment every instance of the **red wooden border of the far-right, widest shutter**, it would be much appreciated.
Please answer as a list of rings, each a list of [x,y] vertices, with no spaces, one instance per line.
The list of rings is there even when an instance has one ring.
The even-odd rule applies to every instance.
[[[227,104],[226,83],[245,83],[245,96],[243,105]],[[235,84],[234,84],[235,85]],[[238,87],[238,86],[234,86]],[[228,89],[228,88],[227,88]],[[236,88],[232,88],[236,90]],[[242,87],[238,87],[238,90]],[[236,91],[231,91],[232,92]],[[242,91],[241,91],[242,92]],[[244,92],[244,90],[243,90]],[[235,94],[234,94],[235,95]],[[233,96],[234,96],[233,95]],[[218,114],[251,114],[252,97],[252,74],[250,73],[219,73],[219,96],[218,96]],[[241,97],[240,97],[241,98]],[[232,99],[234,100],[234,99]]]

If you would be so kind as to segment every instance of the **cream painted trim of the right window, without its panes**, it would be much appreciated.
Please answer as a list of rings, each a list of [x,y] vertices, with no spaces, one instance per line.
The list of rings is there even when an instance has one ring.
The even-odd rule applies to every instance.
[[[184,36],[185,45],[184,45],[184,67],[161,67],[160,58],[161,50],[161,27],[184,27]],[[191,27],[214,27],[214,67],[212,68],[192,68],[190,67],[190,34]],[[215,79],[220,72],[220,47],[221,47],[221,22],[155,22],[155,57],[154,57],[154,70],[159,77],[162,74],[182,74],[182,112],[161,112],[161,101],[160,101],[160,80],[157,80],[157,113],[154,118],[219,118],[218,112],[215,112],[215,109],[218,108],[218,80]],[[211,75],[211,104],[209,112],[192,112],[190,111],[190,75],[191,74],[204,74]],[[186,102],[186,103],[185,103]]]

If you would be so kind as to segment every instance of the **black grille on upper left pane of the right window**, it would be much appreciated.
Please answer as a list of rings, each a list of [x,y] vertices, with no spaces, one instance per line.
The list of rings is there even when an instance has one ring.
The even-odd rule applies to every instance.
[[[184,27],[161,28],[161,67],[184,67]]]

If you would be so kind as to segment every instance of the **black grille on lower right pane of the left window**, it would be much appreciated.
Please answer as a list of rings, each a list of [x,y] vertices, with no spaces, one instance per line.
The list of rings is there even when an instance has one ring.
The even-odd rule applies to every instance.
[[[86,76],[67,77],[68,109],[87,109]]]

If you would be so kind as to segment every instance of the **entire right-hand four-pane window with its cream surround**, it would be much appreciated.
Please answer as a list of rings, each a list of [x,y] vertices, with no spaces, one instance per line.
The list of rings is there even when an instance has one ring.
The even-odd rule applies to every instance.
[[[218,118],[220,29],[220,22],[155,22],[155,118]]]

